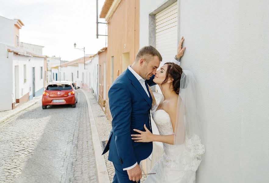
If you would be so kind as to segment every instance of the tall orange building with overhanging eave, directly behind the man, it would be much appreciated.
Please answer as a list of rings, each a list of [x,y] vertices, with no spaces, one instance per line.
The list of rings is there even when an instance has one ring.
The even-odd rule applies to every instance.
[[[100,18],[108,24],[108,50],[106,59],[105,113],[111,121],[108,90],[128,65],[133,64],[139,50],[139,0],[106,0]]]

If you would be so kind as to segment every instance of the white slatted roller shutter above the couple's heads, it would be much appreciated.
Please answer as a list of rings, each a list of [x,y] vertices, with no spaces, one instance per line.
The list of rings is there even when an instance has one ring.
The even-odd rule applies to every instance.
[[[155,15],[156,18],[156,49],[161,53],[163,64],[170,62],[176,55],[178,38],[178,5],[177,2]],[[158,85],[156,90],[161,93]]]

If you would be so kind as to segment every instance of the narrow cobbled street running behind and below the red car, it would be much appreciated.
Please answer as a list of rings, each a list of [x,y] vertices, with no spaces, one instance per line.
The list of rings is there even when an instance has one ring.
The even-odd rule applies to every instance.
[[[76,108],[41,101],[0,124],[0,183],[98,182],[85,96]]]

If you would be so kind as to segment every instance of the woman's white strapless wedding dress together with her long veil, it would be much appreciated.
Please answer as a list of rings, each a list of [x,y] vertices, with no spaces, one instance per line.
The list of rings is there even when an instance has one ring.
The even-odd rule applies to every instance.
[[[175,145],[163,143],[164,154],[150,171],[155,174],[149,174],[145,183],[195,183],[196,181],[196,170],[201,163],[205,146],[201,142],[201,133],[198,128],[199,123],[203,122],[203,117],[200,118],[202,115],[198,113],[201,110],[200,107],[197,108],[199,105],[197,105],[195,92],[198,89],[194,89],[196,83],[193,78],[189,71],[182,74],[178,101],[178,109],[181,111],[177,111],[180,117],[177,117],[178,122],[175,127],[175,132],[180,134],[175,134],[174,137],[174,140],[179,143],[175,142]],[[174,134],[169,114],[163,109],[156,110],[157,108],[158,105],[153,106],[151,113],[160,135]],[[182,129],[186,132],[184,139],[181,135]]]

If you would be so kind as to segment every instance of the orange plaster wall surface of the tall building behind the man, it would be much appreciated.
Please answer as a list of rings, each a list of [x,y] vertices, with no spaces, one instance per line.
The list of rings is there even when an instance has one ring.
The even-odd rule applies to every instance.
[[[111,86],[111,56],[114,56],[114,80],[122,70],[122,53],[129,52],[130,64],[133,64],[139,50],[139,0],[122,0],[114,14],[108,20],[108,58],[107,58],[107,89]],[[126,46],[125,46],[126,45]],[[106,97],[106,114],[111,120]]]

